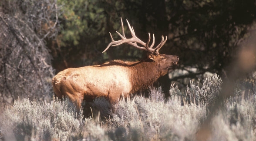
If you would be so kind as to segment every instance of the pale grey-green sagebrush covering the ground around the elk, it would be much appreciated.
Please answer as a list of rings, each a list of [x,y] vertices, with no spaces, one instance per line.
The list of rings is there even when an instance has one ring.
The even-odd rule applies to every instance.
[[[196,140],[210,112],[207,107],[221,94],[221,84],[214,74],[202,83],[191,81],[185,93],[172,85],[167,99],[161,87],[151,88],[149,98],[122,98],[112,109],[105,98],[97,98],[88,118],[82,110],[77,114],[67,98],[50,102],[24,98],[1,114],[0,140]],[[209,140],[256,140],[256,85],[246,85],[239,83],[235,95],[225,99],[211,118]],[[95,109],[98,115],[93,114]]]

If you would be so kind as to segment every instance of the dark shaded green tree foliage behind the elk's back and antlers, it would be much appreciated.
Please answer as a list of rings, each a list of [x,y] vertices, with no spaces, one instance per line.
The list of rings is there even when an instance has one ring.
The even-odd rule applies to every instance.
[[[63,30],[57,43],[51,42],[53,66],[58,71],[102,63],[111,59],[141,59],[145,52],[127,45],[111,47],[108,32],[121,29],[120,16],[128,19],[139,38],[148,32],[168,40],[160,52],[180,58],[179,71],[160,80],[169,87],[172,80],[202,78],[205,72],[225,73],[236,58],[242,41],[256,32],[255,0],[60,0]],[[125,23],[126,35],[129,35]],[[115,34],[114,39],[118,36]],[[127,47],[126,47],[127,46]],[[182,73],[181,73],[182,72]],[[180,74],[179,74],[180,73]],[[161,82],[162,81],[162,82]],[[162,84],[161,84],[162,83]],[[164,86],[165,87],[165,86]]]

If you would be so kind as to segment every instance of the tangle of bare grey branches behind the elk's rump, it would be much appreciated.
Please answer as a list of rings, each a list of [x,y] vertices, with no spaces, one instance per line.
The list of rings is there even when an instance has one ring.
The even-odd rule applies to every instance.
[[[44,39],[57,35],[57,0],[10,1],[3,7],[12,10],[0,9],[0,102],[27,95],[51,98],[54,69]]]

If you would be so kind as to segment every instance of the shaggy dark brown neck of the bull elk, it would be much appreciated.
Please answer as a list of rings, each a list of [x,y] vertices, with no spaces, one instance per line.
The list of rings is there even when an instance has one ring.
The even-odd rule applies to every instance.
[[[129,67],[130,82],[132,85],[131,93],[147,89],[149,85],[152,85],[159,77],[165,75],[167,72],[168,70],[160,69],[158,62],[153,62],[150,59],[135,62]]]

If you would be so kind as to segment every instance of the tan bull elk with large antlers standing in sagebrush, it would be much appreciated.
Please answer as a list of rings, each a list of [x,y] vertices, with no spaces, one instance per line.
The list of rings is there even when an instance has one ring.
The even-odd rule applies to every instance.
[[[153,47],[155,44],[153,34],[153,41],[149,46],[150,33],[148,33],[148,41],[144,43],[135,35],[134,29],[130,26],[128,20],[126,21],[132,37],[129,39],[125,37],[121,19],[122,35],[116,31],[121,39],[115,41],[110,33],[112,42],[108,44],[103,52],[108,50],[110,46],[128,43],[135,48],[147,51],[147,59],[138,62],[113,60],[102,65],[65,69],[52,79],[54,93],[57,97],[69,97],[77,103],[78,109],[81,108],[83,100],[91,101],[101,96],[106,97],[113,104],[122,95],[127,96],[138,90],[147,89],[149,85],[152,85],[160,76],[166,75],[168,70],[177,64],[178,56],[159,53],[167,40],[167,36],[165,36],[165,39],[162,36],[162,41],[156,47]]]

